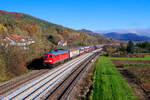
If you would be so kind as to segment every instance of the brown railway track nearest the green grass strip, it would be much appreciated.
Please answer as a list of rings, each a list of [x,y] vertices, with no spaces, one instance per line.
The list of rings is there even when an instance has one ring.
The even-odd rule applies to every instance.
[[[88,64],[97,56],[97,53],[88,57],[84,63],[81,63],[76,67],[70,75],[68,75],[60,84],[58,84],[53,90],[49,91],[47,95],[41,99],[44,100],[67,100],[72,89],[88,67]],[[68,99],[69,100],[69,99]]]

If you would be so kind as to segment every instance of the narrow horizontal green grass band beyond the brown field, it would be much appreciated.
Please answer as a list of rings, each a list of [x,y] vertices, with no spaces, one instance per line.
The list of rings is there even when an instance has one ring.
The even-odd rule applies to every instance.
[[[146,55],[144,58],[121,58],[121,57],[109,57],[113,60],[150,60],[150,55]]]

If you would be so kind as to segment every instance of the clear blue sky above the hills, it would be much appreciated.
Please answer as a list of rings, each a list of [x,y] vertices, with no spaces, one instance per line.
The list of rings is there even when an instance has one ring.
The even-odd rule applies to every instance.
[[[150,28],[150,0],[0,0],[0,9],[73,29]]]

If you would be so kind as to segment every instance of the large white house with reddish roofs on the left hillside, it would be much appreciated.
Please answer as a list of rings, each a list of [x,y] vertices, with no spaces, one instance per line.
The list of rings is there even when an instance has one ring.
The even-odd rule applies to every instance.
[[[12,45],[26,49],[26,46],[29,46],[32,43],[35,43],[35,41],[33,41],[29,36],[16,34],[7,35],[1,39],[1,45],[5,45],[5,47]]]

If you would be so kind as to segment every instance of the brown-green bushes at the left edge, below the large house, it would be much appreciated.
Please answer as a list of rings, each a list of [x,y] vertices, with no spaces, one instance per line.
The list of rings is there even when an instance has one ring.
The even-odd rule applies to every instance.
[[[0,80],[7,80],[15,76],[19,76],[27,71],[25,67],[25,58],[21,49],[8,46],[7,48],[0,48],[0,65],[1,75]]]

